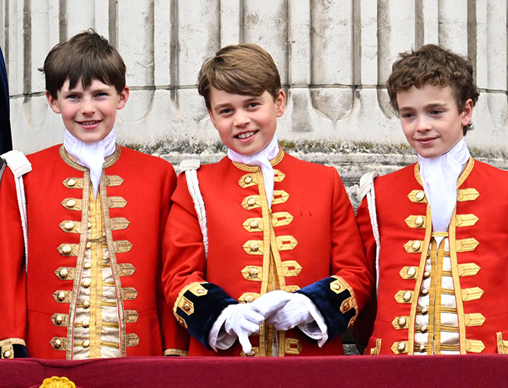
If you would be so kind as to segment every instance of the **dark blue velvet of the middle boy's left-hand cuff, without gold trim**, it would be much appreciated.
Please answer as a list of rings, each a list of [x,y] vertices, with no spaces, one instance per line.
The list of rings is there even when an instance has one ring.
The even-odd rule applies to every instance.
[[[176,314],[186,321],[187,331],[191,336],[198,339],[205,348],[212,350],[208,344],[208,334],[212,325],[224,308],[237,304],[238,301],[231,298],[217,284],[205,283],[202,286],[208,291],[204,296],[195,296],[191,291],[183,294],[194,304],[194,312],[187,315],[181,308],[176,308]]]

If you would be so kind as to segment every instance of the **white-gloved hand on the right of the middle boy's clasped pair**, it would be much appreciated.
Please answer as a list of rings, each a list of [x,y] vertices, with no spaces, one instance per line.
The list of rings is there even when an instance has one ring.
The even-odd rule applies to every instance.
[[[267,317],[266,322],[273,325],[275,329],[282,331],[292,329],[303,323],[313,322],[314,318],[310,315],[309,309],[306,306],[306,300],[312,303],[310,299],[302,293],[286,294],[289,296],[288,303],[280,310],[277,310],[273,315]],[[265,295],[270,295],[270,293]]]

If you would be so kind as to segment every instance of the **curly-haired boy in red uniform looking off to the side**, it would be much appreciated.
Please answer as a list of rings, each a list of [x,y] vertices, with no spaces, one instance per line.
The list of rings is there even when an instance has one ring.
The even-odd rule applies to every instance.
[[[377,272],[365,353],[507,353],[508,172],[464,141],[478,99],[471,62],[428,44],[401,54],[387,89],[418,163],[363,182],[357,220]]]

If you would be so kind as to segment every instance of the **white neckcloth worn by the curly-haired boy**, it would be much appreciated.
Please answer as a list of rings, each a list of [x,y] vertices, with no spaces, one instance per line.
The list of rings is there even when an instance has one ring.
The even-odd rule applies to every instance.
[[[425,158],[418,154],[423,190],[430,204],[433,231],[448,230],[456,205],[456,182],[462,165],[469,159],[469,150],[461,138],[452,150],[438,157]]]

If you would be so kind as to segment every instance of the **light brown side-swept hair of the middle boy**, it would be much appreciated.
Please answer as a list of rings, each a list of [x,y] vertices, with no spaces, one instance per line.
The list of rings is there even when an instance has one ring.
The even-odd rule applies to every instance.
[[[210,110],[210,89],[237,95],[260,96],[265,90],[274,99],[281,80],[272,56],[256,44],[234,44],[217,51],[202,64],[198,92]]]

